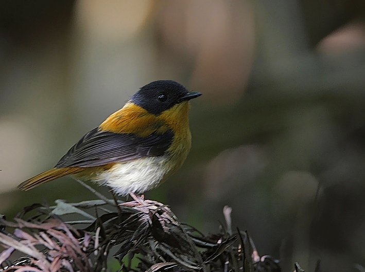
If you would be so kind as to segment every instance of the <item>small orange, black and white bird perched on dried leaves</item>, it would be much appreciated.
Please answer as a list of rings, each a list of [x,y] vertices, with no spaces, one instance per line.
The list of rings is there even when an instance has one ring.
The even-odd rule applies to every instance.
[[[159,186],[190,151],[189,101],[200,95],[171,80],[143,86],[123,108],[86,133],[54,168],[22,182],[18,189],[29,190],[66,175],[106,185],[119,196]]]

